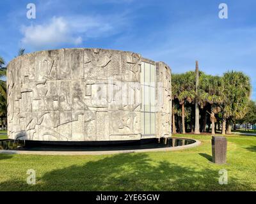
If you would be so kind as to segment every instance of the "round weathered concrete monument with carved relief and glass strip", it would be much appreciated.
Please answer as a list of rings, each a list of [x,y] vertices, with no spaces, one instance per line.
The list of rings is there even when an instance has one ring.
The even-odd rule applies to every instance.
[[[134,52],[68,48],[7,67],[8,136],[125,142],[171,136],[171,70]]]

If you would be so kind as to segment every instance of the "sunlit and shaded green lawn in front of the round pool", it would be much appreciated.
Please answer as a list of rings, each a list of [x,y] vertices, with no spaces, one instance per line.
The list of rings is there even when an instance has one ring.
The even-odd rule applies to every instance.
[[[256,191],[255,136],[227,136],[225,165],[209,161],[210,135],[185,136],[202,145],[108,156],[0,154],[0,191]],[[34,186],[26,184],[28,169],[36,171]],[[228,171],[227,185],[218,183],[221,169]]]

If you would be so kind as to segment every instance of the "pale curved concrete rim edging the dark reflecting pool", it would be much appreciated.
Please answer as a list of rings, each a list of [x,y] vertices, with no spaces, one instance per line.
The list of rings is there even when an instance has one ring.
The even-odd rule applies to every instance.
[[[194,143],[177,147],[161,147],[154,149],[132,149],[132,150],[97,150],[97,151],[43,151],[43,150],[0,150],[0,154],[31,154],[31,155],[103,155],[103,154],[124,154],[124,153],[140,153],[140,152],[168,152],[175,150],[184,150],[201,145],[199,140],[191,138],[172,137],[180,140],[193,140]]]

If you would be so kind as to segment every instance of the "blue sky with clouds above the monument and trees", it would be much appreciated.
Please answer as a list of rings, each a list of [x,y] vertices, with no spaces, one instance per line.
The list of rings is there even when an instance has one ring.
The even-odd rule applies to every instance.
[[[36,19],[28,19],[28,3]],[[218,17],[220,3],[228,18]],[[173,73],[195,69],[212,75],[244,71],[256,99],[256,1],[45,0],[0,1],[0,55],[36,50],[99,47],[138,52],[164,61]]]

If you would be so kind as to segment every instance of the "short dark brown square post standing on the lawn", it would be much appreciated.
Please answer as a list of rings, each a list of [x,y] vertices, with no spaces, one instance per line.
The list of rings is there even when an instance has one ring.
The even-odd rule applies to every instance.
[[[212,162],[225,164],[227,161],[227,138],[212,136]]]

